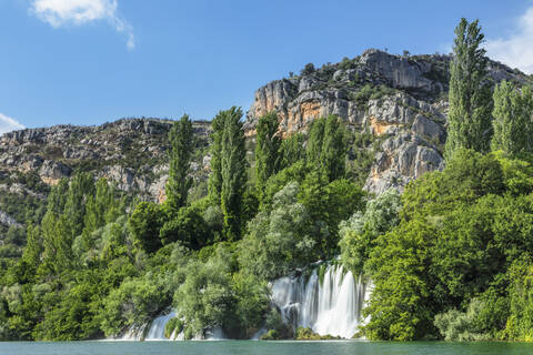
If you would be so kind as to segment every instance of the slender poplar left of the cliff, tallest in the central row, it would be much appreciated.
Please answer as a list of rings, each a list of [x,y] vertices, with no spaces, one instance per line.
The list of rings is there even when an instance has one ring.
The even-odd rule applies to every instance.
[[[235,106],[224,112],[220,155],[220,206],[224,214],[224,234],[228,240],[238,239],[241,234],[242,195],[248,179],[245,136],[241,118],[242,110]]]

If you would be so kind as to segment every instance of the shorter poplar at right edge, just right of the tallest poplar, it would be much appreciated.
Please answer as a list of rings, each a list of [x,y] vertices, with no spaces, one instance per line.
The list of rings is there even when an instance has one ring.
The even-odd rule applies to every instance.
[[[494,135],[492,150],[502,150],[506,154],[516,155],[533,149],[533,94],[525,87],[522,92],[507,81],[494,89]]]

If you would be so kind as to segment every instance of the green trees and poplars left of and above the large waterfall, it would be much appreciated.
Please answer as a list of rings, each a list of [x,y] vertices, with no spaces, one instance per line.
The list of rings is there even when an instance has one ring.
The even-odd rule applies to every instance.
[[[89,173],[60,181],[29,223],[22,255],[0,275],[0,338],[142,333],[172,307],[168,335],[249,338],[265,326],[272,338],[292,337],[268,282],[334,257],[339,224],[365,194],[344,179],[346,132],[336,118],[284,141],[275,114],[260,120],[253,181],[241,116],[232,108],[213,120],[205,199],[189,199],[188,116],[169,134],[165,202],[131,203]]]

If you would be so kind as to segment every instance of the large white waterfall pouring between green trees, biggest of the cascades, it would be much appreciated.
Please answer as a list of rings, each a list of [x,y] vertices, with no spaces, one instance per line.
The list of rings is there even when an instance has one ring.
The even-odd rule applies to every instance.
[[[351,338],[363,323],[366,285],[339,265],[328,265],[322,282],[311,276],[281,277],[272,284],[272,302],[283,320],[320,335]]]

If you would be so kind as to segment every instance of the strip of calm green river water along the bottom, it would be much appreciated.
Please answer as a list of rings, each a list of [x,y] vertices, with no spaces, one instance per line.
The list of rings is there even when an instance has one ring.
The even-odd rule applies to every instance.
[[[388,342],[70,342],[0,343],[0,355],[487,355],[530,354],[524,343]]]

